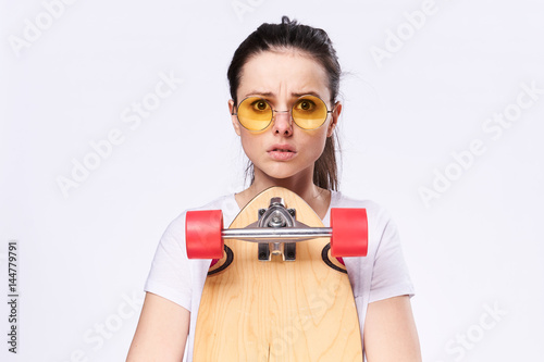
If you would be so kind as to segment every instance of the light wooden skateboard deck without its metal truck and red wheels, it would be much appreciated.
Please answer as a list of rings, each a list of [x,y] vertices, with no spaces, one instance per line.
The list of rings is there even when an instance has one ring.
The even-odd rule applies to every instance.
[[[272,187],[255,197],[230,228],[256,222],[273,197],[296,209],[297,221],[323,226],[300,197]],[[194,361],[362,361],[351,286],[344,265],[327,254],[329,241],[297,242],[295,261],[281,255],[259,261],[257,244],[225,239],[230,251],[210,267],[205,283]]]

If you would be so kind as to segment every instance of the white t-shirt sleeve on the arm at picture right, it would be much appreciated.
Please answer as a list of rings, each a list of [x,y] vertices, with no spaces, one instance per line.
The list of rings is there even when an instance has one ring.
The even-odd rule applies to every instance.
[[[381,210],[373,230],[379,240],[372,269],[369,302],[397,297],[413,296],[413,285],[403,255],[396,224]]]

